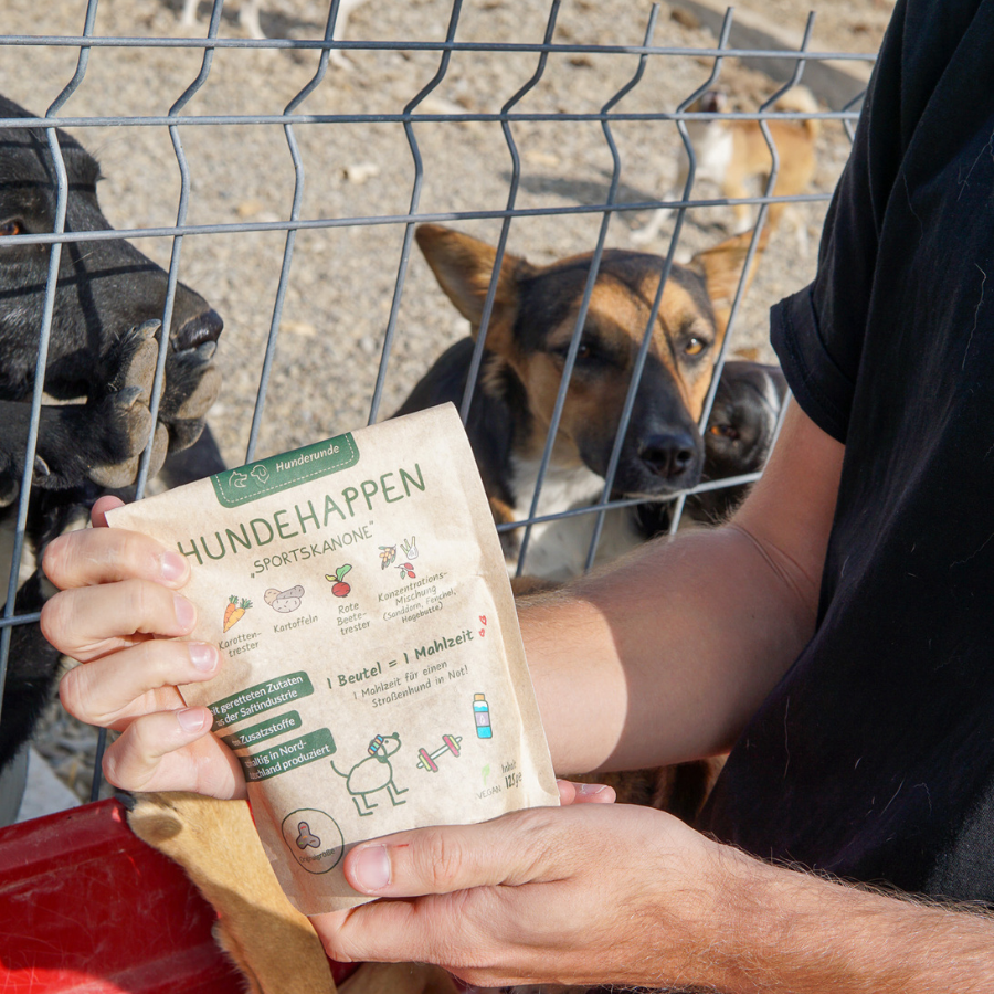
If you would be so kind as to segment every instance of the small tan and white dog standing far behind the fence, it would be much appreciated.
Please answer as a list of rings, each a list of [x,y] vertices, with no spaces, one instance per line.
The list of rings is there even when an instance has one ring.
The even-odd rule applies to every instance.
[[[793,86],[773,105],[775,110],[816,114],[817,101],[806,86]],[[723,114],[728,109],[727,96],[717,89],[709,89],[695,104],[691,112]],[[780,168],[776,173],[774,197],[790,197],[803,193],[814,177],[815,139],[821,130],[818,120],[768,120],[770,136],[776,147]],[[688,120],[687,131],[697,159],[695,183],[699,180],[713,183],[730,200],[755,195],[765,190],[770,179],[773,159],[766,139],[755,120]],[[687,177],[690,175],[690,159],[680,142],[679,172],[669,191],[669,200],[680,200]],[[695,195],[696,190],[691,190]],[[775,228],[787,204],[771,203],[766,222]],[[752,208],[745,203],[732,204],[737,232],[744,231],[753,223]],[[632,233],[636,245],[644,245],[659,234],[659,229],[673,213],[673,208],[659,208],[653,212],[648,224]]]

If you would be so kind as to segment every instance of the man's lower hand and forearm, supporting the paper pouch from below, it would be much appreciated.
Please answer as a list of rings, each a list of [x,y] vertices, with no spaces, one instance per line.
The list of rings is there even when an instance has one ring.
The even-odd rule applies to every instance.
[[[345,873],[392,900],[314,919],[336,960],[438,963],[485,986],[994,991],[990,916],[770,866],[639,805],[404,832],[356,846]]]

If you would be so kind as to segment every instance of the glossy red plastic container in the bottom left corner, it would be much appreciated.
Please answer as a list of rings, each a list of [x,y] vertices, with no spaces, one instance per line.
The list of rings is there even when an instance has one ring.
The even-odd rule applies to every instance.
[[[241,994],[182,869],[98,801],[0,829],[4,994]],[[355,967],[332,964],[336,981]]]

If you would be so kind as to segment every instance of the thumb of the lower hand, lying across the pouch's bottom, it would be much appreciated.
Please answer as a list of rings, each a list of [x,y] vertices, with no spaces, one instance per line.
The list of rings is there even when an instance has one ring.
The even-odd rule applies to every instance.
[[[349,885],[372,897],[452,893],[470,887],[543,879],[550,845],[568,808],[532,808],[478,825],[441,825],[356,846],[342,867]],[[528,839],[541,845],[532,846]]]

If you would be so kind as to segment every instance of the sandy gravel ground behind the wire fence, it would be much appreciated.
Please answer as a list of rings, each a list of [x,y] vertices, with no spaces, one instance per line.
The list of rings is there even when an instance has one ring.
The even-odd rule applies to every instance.
[[[94,34],[182,36],[180,6],[180,0],[104,0]],[[210,4],[204,0],[200,6],[202,38]],[[807,13],[807,6],[795,0],[751,0],[748,6],[794,31],[801,30]],[[85,0],[4,0],[0,33],[75,36],[83,29],[86,7]],[[648,0],[563,0],[554,40],[641,44],[649,7]],[[235,17],[237,4],[229,0],[225,8],[221,35],[243,36]],[[811,50],[876,51],[891,8],[892,0],[822,0]],[[326,0],[264,0],[262,27],[271,36],[319,39],[327,10]],[[450,12],[448,0],[369,0],[353,12],[348,36],[355,41],[438,41],[445,36]],[[456,38],[540,42],[547,17],[546,2],[537,0],[464,0]],[[644,78],[618,109],[672,110],[707,77],[711,62],[696,50],[713,46],[715,39],[696,27],[692,18],[663,3],[653,42],[686,51],[648,60]],[[55,44],[7,45],[0,60],[0,92],[44,114],[72,77],[77,54],[74,47]],[[305,169],[303,218],[380,218],[406,212],[414,169],[404,129],[374,116],[401,112],[435,73],[438,57],[424,51],[355,51],[347,68],[329,68],[299,109],[359,119],[296,127]],[[60,116],[165,115],[197,77],[201,59],[200,50],[182,47],[94,47],[83,84]],[[497,112],[528,80],[536,62],[533,53],[455,53],[442,84],[422,109]],[[278,114],[313,77],[317,64],[315,51],[219,50],[207,84],[182,113]],[[636,65],[637,59],[630,54],[553,55],[541,83],[519,109],[598,110]],[[720,82],[743,107],[755,107],[775,88],[770,80],[733,60],[726,61]],[[600,125],[520,123],[514,130],[522,161],[518,207],[559,209],[603,202],[612,160]],[[414,126],[414,133],[424,161],[421,212],[505,208],[510,156],[499,124],[422,123]],[[75,134],[102,162],[106,179],[101,199],[116,228],[165,228],[176,222],[180,173],[165,127],[80,128]],[[182,127],[180,134],[192,180],[187,223],[223,225],[289,216],[294,170],[282,127],[218,124]],[[675,126],[668,121],[617,123],[614,136],[623,163],[621,199],[639,202],[662,195],[676,175],[679,138]],[[811,279],[827,197],[848,150],[842,126],[826,123],[817,142],[818,166],[812,188],[824,199],[797,207],[793,222],[785,221],[772,240],[733,328],[733,351],[772,360],[766,311],[772,303]],[[713,189],[700,192],[717,195]],[[634,247],[633,229],[645,220],[644,213],[616,214],[607,244]],[[730,222],[728,208],[692,211],[678,258],[725,239]],[[595,213],[519,218],[511,225],[509,251],[536,263],[588,251],[595,244],[600,223]],[[457,226],[496,241],[500,222],[462,221]],[[651,251],[666,252],[668,230],[648,246]],[[404,225],[399,223],[328,228],[297,235],[256,456],[309,444],[368,420],[403,235]],[[138,244],[168,265],[171,239],[146,237]],[[244,461],[285,244],[286,235],[279,231],[195,234],[182,241],[180,278],[207,296],[225,321],[219,352],[225,369],[224,390],[210,422],[225,458],[234,465]],[[414,250],[380,416],[391,413],[432,359],[466,330],[466,322]],[[85,763],[76,766],[85,769]]]

